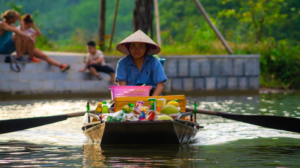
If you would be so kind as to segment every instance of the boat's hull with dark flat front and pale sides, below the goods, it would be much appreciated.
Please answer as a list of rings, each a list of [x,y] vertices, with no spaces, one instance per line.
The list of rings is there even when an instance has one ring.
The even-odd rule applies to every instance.
[[[198,127],[172,120],[92,122],[83,133],[92,143],[106,144],[184,144],[193,140]]]

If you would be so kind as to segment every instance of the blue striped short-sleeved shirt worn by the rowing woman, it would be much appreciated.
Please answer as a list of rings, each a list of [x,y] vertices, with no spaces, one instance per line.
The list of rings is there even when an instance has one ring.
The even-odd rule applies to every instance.
[[[134,64],[132,56],[127,55],[119,60],[116,70],[116,81],[126,81],[127,85],[146,84],[156,88],[156,85],[167,81],[163,65],[153,56],[146,55],[142,69]]]

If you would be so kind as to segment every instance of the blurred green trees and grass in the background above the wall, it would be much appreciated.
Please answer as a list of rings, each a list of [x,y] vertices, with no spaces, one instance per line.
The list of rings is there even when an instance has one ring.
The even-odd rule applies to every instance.
[[[37,14],[34,19],[44,35],[36,46],[42,50],[84,53],[87,41],[98,41],[99,0],[0,0],[0,4],[7,2],[10,6],[2,5],[0,11],[13,7]],[[106,1],[107,35],[111,34],[115,2]],[[299,0],[200,2],[235,54],[261,55],[261,85],[300,89]],[[133,32],[133,8],[134,0],[119,2],[113,50],[105,54],[120,54],[114,46]],[[162,55],[227,54],[194,1],[160,0],[159,15]],[[109,41],[106,39],[106,48]]]

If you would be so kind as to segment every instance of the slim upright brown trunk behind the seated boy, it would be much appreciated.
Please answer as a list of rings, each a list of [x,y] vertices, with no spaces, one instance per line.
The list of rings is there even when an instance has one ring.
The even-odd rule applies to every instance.
[[[104,36],[105,36],[105,3],[106,0],[100,1],[100,11],[99,11],[99,41],[98,45],[100,50],[104,50]]]

